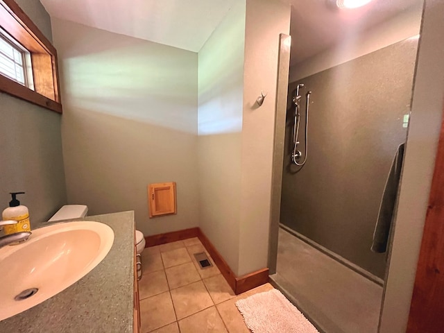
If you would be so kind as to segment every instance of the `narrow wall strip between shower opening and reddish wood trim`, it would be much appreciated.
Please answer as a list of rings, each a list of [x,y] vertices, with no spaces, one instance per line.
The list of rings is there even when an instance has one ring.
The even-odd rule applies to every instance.
[[[425,5],[381,333],[407,328],[443,114],[444,3]]]

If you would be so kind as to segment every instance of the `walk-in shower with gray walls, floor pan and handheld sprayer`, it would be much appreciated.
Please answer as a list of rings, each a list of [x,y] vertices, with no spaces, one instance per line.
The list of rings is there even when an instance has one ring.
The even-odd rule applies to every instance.
[[[386,254],[370,247],[393,155],[407,135],[417,47],[402,40],[290,75],[277,137],[284,147],[271,281],[320,332],[377,332]]]

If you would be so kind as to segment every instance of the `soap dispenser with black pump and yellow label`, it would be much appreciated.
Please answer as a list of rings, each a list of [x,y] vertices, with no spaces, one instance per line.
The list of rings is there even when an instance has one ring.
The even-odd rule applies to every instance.
[[[3,220],[17,221],[16,224],[5,225],[3,228],[5,234],[31,231],[28,207],[20,205],[20,201],[17,200],[17,194],[25,194],[25,192],[10,193],[12,200],[9,202],[9,207],[7,207],[6,210],[3,210],[3,213],[1,214]]]

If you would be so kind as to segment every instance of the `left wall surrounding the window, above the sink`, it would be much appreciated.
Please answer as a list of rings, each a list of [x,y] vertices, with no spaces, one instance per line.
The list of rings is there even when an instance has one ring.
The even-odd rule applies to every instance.
[[[38,0],[17,0],[49,40],[51,22]],[[0,93],[0,210],[10,191],[25,191],[31,227],[46,221],[67,200],[63,171],[60,114]]]

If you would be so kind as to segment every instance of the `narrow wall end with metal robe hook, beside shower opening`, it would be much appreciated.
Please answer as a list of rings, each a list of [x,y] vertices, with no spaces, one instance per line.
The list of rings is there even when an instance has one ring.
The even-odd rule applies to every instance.
[[[279,35],[290,29],[290,6],[246,3],[238,275],[268,266]],[[267,96],[257,108],[261,91]]]

